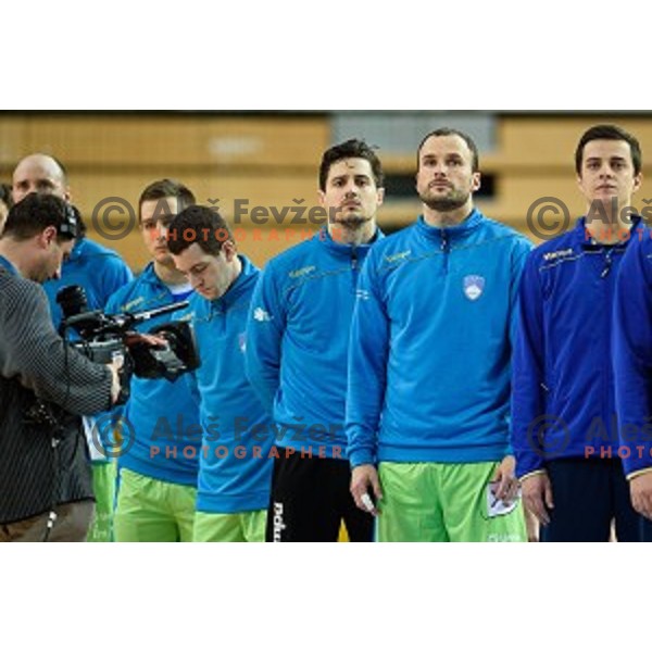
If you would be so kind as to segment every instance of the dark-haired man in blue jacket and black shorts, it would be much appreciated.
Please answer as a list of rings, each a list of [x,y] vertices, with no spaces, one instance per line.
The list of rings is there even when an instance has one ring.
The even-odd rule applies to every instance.
[[[328,226],[266,267],[252,302],[249,378],[276,423],[267,540],[373,539],[349,493],[344,432],[349,333],[362,264],[383,238],[383,167],[360,140],[329,149],[319,171]]]

